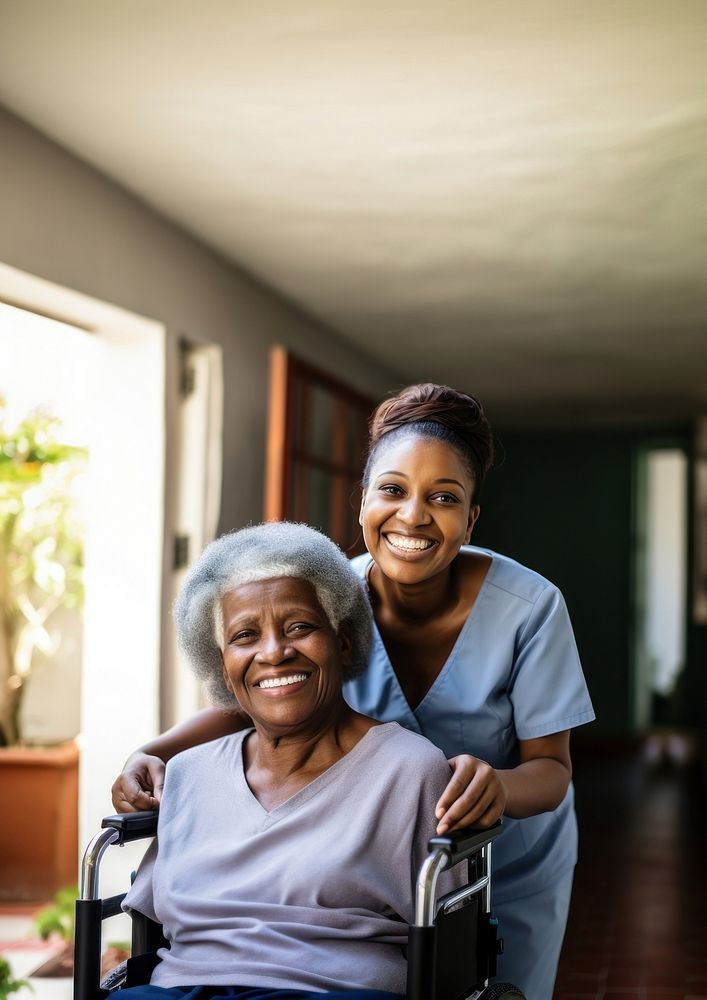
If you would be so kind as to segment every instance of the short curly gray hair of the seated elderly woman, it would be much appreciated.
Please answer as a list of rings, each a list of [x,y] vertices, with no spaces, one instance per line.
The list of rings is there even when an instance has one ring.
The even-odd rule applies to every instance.
[[[348,680],[368,665],[371,608],[363,581],[341,549],[306,524],[279,521],[242,528],[207,545],[189,570],[174,605],[179,648],[214,704],[233,708],[223,679],[221,598],[234,587],[291,576],[307,580],[332,628],[351,629]]]

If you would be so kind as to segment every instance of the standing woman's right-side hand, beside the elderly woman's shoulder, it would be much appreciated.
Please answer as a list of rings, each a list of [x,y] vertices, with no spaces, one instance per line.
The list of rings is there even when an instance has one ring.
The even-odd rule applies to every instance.
[[[449,764],[454,774],[437,803],[437,833],[492,826],[503,815],[508,797],[500,773],[469,754],[453,757]]]

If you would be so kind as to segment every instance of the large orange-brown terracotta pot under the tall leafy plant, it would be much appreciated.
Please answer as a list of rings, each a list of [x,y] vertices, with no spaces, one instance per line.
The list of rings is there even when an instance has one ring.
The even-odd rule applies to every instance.
[[[77,880],[79,751],[0,748],[0,900],[50,899]]]

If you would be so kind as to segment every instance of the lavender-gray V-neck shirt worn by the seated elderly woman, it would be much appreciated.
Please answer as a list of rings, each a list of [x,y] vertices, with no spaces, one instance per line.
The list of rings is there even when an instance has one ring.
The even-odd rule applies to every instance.
[[[125,902],[171,943],[152,983],[404,992],[414,882],[450,778],[443,754],[397,723],[374,726],[268,812],[245,779],[246,735],[167,767],[157,842]]]

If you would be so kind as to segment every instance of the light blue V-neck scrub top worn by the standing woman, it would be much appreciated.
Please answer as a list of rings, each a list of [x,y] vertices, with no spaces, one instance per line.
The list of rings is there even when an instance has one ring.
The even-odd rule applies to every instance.
[[[426,736],[447,757],[468,753],[496,768],[518,763],[518,740],[547,736],[594,718],[567,607],[538,573],[487,549],[486,579],[434,684],[413,711],[378,629],[369,667],[344,686],[346,700],[381,722]],[[366,553],[353,560],[366,578]],[[504,818],[494,841],[493,899],[547,888],[577,860],[574,790],[553,812]]]

